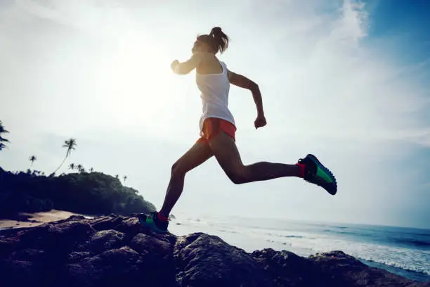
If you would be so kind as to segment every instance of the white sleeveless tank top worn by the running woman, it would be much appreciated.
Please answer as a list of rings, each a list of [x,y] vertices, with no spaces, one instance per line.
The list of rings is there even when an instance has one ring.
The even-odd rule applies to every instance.
[[[228,92],[230,82],[226,64],[221,63],[223,71],[219,74],[201,75],[196,72],[197,87],[200,89],[203,108],[200,117],[200,130],[203,129],[203,122],[209,117],[218,117],[235,125],[235,119],[228,110]]]

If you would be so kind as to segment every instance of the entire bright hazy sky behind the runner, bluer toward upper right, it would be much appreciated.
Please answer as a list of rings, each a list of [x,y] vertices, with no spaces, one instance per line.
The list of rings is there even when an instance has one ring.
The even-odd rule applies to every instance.
[[[172,213],[430,228],[430,4],[427,1],[2,0],[0,120],[6,170],[71,162],[126,175],[157,208],[171,165],[199,137],[195,72],[174,75],[197,34],[231,38],[219,55],[253,79],[230,89],[245,164],[315,154],[330,196],[297,178],[231,183],[214,158],[185,177]]]

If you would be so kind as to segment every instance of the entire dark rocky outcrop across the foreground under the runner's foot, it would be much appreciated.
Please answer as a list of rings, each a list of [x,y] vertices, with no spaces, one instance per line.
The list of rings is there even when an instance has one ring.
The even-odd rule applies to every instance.
[[[341,251],[246,253],[217,236],[156,234],[136,217],[72,216],[0,231],[1,286],[430,287]]]

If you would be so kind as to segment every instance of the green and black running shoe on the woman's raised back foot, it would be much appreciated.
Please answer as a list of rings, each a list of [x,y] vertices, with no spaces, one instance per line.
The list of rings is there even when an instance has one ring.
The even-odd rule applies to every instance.
[[[332,196],[337,193],[336,178],[332,172],[330,172],[330,170],[315,157],[315,155],[306,155],[306,158],[299,159],[299,163],[306,166],[304,180],[311,182],[311,184],[321,186]]]

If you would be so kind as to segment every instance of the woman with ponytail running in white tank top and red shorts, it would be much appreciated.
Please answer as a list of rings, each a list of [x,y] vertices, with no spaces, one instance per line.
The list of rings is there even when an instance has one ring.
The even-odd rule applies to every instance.
[[[235,144],[235,120],[228,109],[230,84],[252,92],[257,110],[254,122],[256,129],[266,126],[261,92],[258,84],[243,75],[227,69],[226,64],[216,58],[228,47],[229,38],[220,27],[209,34],[198,36],[192,49],[193,55],[183,63],[174,60],[171,69],[185,75],[196,69],[197,87],[203,103],[200,118],[200,139],[171,167],[171,177],[164,203],[159,212],[138,215],[139,221],[158,232],[167,232],[169,214],[183,191],[185,174],[215,156],[234,184],[264,181],[278,177],[300,177],[316,184],[334,195],[337,182],[332,172],[315,155],[308,154],[296,164],[256,162],[244,165]]]

